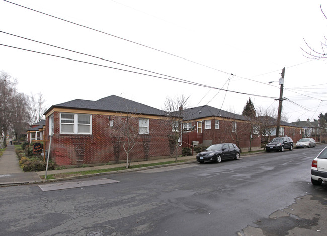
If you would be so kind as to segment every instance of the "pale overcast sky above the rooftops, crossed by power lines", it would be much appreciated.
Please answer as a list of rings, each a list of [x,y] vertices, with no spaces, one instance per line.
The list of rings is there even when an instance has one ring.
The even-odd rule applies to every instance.
[[[278,101],[274,98],[279,97],[278,79],[285,67],[283,97],[287,100],[283,102],[283,111],[288,121],[313,120],[327,112],[326,61],[310,60],[301,50],[307,49],[303,39],[319,49],[327,36],[327,19],[320,10],[320,1],[13,0],[13,3],[147,47],[4,0],[0,1],[0,31],[240,92],[0,45],[0,70],[17,79],[20,92],[43,93],[49,106],[77,98],[98,100],[114,94],[161,109],[166,97],[184,94],[190,97],[190,107],[210,105],[240,114],[250,97],[257,109],[277,110]],[[327,13],[327,4],[321,6]],[[151,74],[5,33],[0,33],[0,44]],[[268,84],[269,81],[275,82]]]

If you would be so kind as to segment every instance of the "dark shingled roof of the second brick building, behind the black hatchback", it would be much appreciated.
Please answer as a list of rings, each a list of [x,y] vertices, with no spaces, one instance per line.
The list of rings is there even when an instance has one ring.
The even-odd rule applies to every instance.
[[[248,120],[248,117],[244,115],[234,114],[228,111],[220,110],[218,108],[214,108],[212,106],[198,106],[194,108],[189,108],[184,110],[184,120],[196,120],[202,119],[206,117],[224,117],[224,118],[232,118],[237,120]]]

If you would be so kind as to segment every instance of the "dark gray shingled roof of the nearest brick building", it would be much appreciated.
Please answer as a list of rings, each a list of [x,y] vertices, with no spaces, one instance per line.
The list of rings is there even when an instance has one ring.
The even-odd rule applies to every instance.
[[[44,114],[47,114],[53,108],[75,108],[81,110],[97,110],[123,113],[132,112],[137,114],[149,114],[160,116],[165,114],[165,112],[163,112],[162,110],[115,95],[104,97],[97,101],[75,99],[72,101],[53,105]]]

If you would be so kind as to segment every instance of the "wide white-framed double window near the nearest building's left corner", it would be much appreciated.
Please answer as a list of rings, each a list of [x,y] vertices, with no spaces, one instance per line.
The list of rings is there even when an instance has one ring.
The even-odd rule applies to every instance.
[[[91,134],[92,115],[60,113],[60,134]]]

